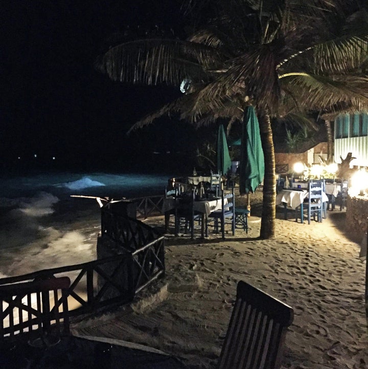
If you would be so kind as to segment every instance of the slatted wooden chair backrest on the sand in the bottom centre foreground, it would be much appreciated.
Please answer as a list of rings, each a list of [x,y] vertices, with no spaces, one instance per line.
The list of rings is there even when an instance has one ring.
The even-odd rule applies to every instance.
[[[293,309],[239,281],[218,369],[278,369]]]

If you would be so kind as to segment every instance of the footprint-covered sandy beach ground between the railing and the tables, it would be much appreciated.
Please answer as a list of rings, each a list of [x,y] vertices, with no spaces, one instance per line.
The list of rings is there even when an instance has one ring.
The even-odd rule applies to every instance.
[[[251,201],[248,234],[237,229],[225,241],[167,234],[166,277],[130,306],[74,323],[73,334],[145,344],[191,368],[213,368],[236,285],[245,280],[294,309],[282,368],[367,368],[365,260],[344,228],[346,213],[329,211],[308,225],[292,214],[284,220],[279,209],[275,237],[259,240],[262,192]],[[146,222],[162,227],[164,220]]]

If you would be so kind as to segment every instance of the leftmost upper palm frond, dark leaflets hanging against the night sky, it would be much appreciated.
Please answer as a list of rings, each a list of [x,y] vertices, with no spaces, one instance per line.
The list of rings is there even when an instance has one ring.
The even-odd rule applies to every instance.
[[[223,62],[214,48],[171,39],[131,41],[110,49],[97,67],[117,81],[178,84],[185,77],[205,79]]]

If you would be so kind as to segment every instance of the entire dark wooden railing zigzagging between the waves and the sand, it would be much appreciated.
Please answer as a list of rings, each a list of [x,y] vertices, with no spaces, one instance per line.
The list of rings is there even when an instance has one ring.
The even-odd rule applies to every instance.
[[[163,198],[141,198],[138,206],[139,209],[143,206],[141,214],[147,217],[155,212],[161,213]],[[133,200],[138,199],[129,201]],[[67,276],[71,280],[67,289],[70,316],[95,313],[105,307],[131,302],[137,292],[165,275],[165,237],[141,221],[119,214],[123,205],[101,208],[102,258],[1,278],[0,286]],[[104,242],[106,238],[108,242]],[[38,308],[32,306],[32,309]],[[6,320],[5,315],[0,314],[0,323]]]

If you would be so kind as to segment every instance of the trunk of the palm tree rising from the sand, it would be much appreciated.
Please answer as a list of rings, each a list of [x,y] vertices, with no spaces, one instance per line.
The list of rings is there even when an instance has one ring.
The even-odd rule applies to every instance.
[[[274,237],[276,218],[275,159],[272,140],[271,120],[268,114],[258,112],[261,142],[265,160],[263,180],[263,205],[260,237],[263,240]]]

